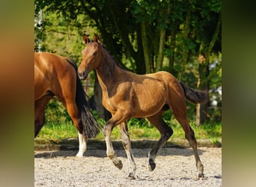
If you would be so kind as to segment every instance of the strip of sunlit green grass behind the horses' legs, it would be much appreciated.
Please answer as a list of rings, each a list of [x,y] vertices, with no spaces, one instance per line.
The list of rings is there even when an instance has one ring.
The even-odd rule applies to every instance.
[[[100,123],[104,123],[100,121]],[[171,120],[171,129],[174,130],[174,134],[171,138],[185,138],[182,127],[177,120]],[[217,139],[222,138],[222,124],[221,123],[206,123],[201,126],[197,126],[194,121],[190,121],[190,126],[195,132],[195,138],[210,139],[213,143]],[[160,135],[158,130],[150,125],[147,120],[132,119],[128,122],[129,136],[131,139],[159,139]],[[38,140],[52,140],[59,141],[65,138],[77,138],[76,127],[73,123],[46,123],[37,135]],[[100,132],[96,139],[103,140],[103,132]],[[112,131],[112,139],[121,139],[120,132],[117,127]]]

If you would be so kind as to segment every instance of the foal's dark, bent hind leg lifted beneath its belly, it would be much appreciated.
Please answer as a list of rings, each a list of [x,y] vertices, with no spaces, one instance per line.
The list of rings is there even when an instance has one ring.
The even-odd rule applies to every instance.
[[[168,138],[171,137],[173,130],[165,123],[164,120],[162,120],[162,111],[151,117],[147,117],[147,120],[149,120],[150,123],[153,124],[153,126],[156,126],[156,129],[158,129],[161,133],[161,138],[148,153],[148,168],[150,171],[153,171],[156,168],[156,153],[165,145],[166,141],[168,141]]]

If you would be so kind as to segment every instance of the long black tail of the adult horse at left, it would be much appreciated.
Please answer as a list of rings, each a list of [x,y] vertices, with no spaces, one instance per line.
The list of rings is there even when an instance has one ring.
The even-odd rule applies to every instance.
[[[76,70],[76,105],[79,108],[81,114],[81,120],[83,125],[83,133],[86,138],[95,138],[100,132],[101,126],[97,123],[94,115],[91,114],[88,102],[86,100],[87,95],[82,87],[82,82],[77,74],[76,62],[71,58],[66,58],[66,60],[74,67]]]

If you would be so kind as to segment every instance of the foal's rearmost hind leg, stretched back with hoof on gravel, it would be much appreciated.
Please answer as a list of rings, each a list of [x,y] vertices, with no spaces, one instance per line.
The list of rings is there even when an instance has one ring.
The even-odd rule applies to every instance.
[[[198,146],[195,140],[195,132],[192,130],[191,126],[189,126],[189,120],[186,117],[186,110],[184,109],[183,111],[179,112],[173,111],[173,114],[183,127],[185,137],[189,141],[189,144],[194,151],[196,167],[198,168],[198,177],[204,177],[204,165],[202,165],[198,155]]]

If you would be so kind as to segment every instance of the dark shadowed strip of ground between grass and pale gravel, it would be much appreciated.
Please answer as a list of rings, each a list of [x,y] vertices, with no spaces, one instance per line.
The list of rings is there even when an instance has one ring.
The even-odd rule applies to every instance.
[[[135,158],[147,157],[149,150],[156,144],[156,140],[135,140],[132,141],[132,151]],[[198,153],[201,155],[203,150],[200,147],[222,147],[221,140],[218,141],[219,144],[212,143],[210,140],[198,140]],[[113,147],[115,149],[115,153],[117,156],[122,156],[127,158],[127,155],[124,151],[123,144],[121,141],[112,141]],[[79,143],[77,138],[64,139],[60,142],[54,141],[35,141],[34,150],[35,151],[45,151],[36,153],[34,158],[55,158],[58,156],[75,156],[78,151]],[[168,148],[178,148],[178,152],[175,151],[167,151]],[[187,149],[189,146],[188,141],[186,139],[172,139],[168,141],[162,150],[159,151],[158,156],[192,156],[192,149]],[[143,149],[143,153],[141,151],[136,153],[136,149]],[[48,152],[47,152],[48,151]],[[50,152],[49,152],[50,151]],[[87,151],[85,156],[97,156],[97,157],[106,157],[106,143],[102,140],[91,139],[88,140],[87,143]]]

